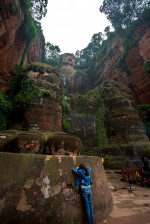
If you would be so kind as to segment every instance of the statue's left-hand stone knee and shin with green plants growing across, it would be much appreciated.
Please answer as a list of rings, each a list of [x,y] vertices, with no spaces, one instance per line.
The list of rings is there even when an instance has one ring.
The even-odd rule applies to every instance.
[[[28,129],[35,127],[45,131],[62,131],[60,78],[53,68],[46,64],[31,64],[30,69],[32,70],[29,70],[28,77],[35,81],[36,86],[45,92],[45,95],[37,97],[28,106],[22,125]]]

